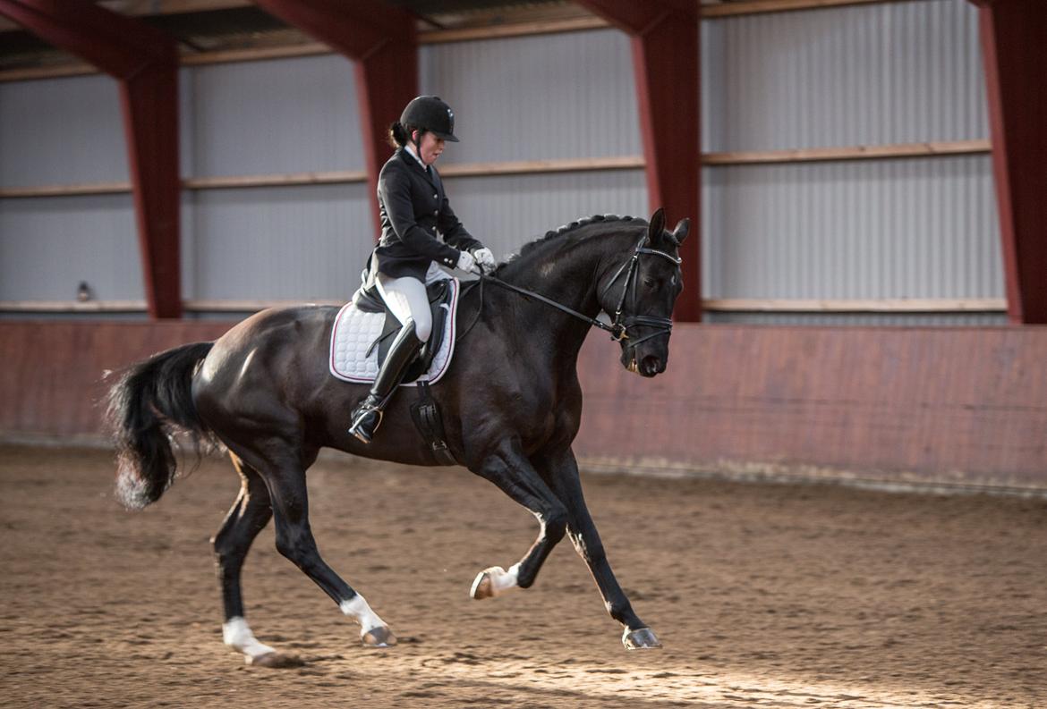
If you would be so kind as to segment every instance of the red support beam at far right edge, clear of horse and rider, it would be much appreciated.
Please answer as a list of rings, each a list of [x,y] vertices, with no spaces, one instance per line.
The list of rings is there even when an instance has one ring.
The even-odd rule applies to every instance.
[[[1047,4],[979,7],[1000,235],[1013,323],[1047,323]]]

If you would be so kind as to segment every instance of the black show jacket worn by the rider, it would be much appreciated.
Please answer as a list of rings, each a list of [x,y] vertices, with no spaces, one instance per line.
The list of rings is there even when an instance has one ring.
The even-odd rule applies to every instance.
[[[382,238],[375,253],[378,270],[387,276],[424,281],[431,261],[454,268],[459,251],[483,246],[451,211],[440,175],[429,170],[401,147],[378,175]]]

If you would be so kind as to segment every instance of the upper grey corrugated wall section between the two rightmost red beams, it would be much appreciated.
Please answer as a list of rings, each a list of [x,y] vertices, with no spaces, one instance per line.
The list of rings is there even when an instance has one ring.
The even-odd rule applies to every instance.
[[[965,0],[726,18],[703,39],[706,151],[988,136]]]

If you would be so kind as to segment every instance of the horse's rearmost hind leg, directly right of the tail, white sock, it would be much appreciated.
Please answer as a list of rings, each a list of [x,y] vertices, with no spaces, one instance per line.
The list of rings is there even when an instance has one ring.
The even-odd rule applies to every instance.
[[[217,556],[218,578],[222,586],[222,603],[225,620],[222,623],[222,639],[229,647],[244,654],[247,662],[258,664],[279,664],[280,656],[268,645],[254,638],[244,619],[244,602],[240,594],[240,571],[251,542],[269,523],[272,509],[269,506],[269,490],[254,468],[244,463],[235,454],[232,464],[240,474],[240,495],[229,508],[222,528],[213,540]]]

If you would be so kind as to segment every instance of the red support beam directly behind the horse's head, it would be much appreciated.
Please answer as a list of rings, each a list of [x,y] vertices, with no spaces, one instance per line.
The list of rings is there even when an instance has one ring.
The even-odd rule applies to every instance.
[[[640,128],[650,208],[670,223],[691,218],[684,242],[684,282],[677,320],[701,320],[700,113],[698,4],[694,0],[578,0],[632,38]]]

